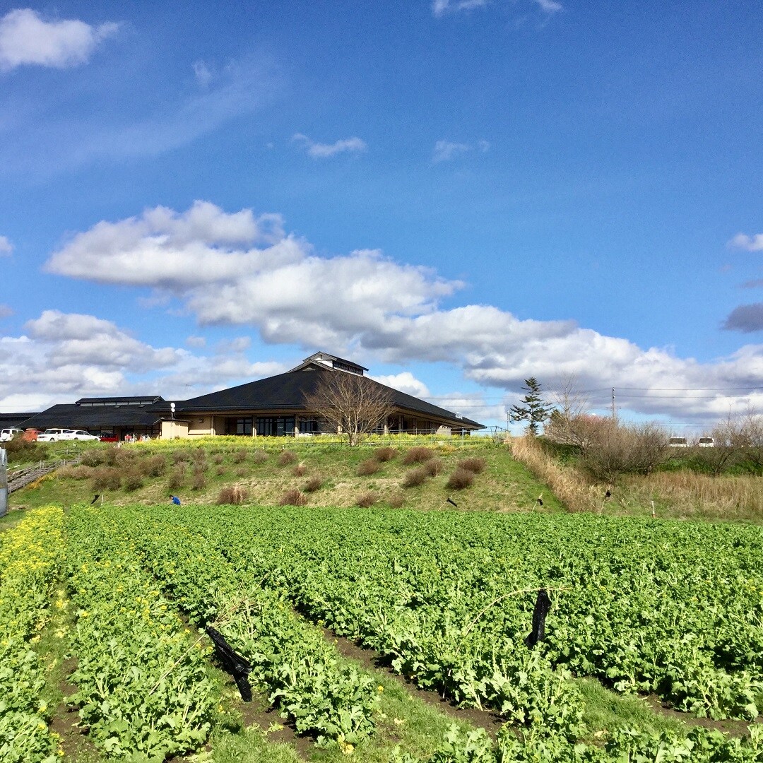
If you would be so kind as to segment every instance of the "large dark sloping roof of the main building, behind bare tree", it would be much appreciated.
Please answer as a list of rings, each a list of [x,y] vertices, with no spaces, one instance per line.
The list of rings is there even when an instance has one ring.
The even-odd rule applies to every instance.
[[[250,381],[247,384],[223,389],[219,392],[202,394],[198,398],[177,403],[176,408],[179,414],[183,411],[190,413],[201,412],[202,410],[305,410],[305,394],[311,394],[315,391],[321,375],[325,373],[340,374],[345,372],[321,368],[320,364],[315,364],[306,369],[292,370],[285,374],[270,376],[259,379],[259,381]],[[372,379],[369,381],[372,384],[379,384],[378,381]],[[459,418],[451,410],[414,398],[412,394],[406,394],[385,385],[379,386],[387,389],[393,404],[403,410],[435,419],[444,419],[455,427],[484,428],[477,421]]]

